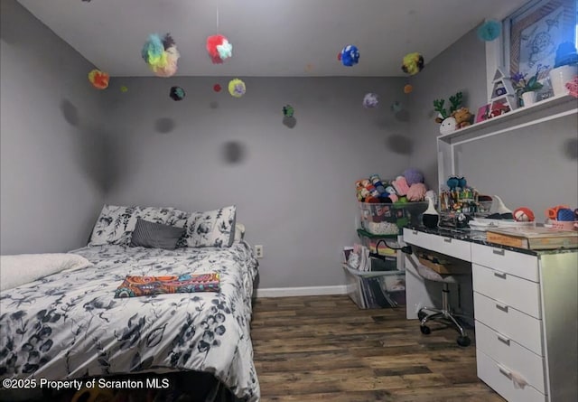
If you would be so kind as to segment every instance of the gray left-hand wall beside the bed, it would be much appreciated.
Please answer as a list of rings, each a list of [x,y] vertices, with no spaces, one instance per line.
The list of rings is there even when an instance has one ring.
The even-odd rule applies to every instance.
[[[78,248],[106,180],[94,67],[14,0],[0,7],[0,253]]]

